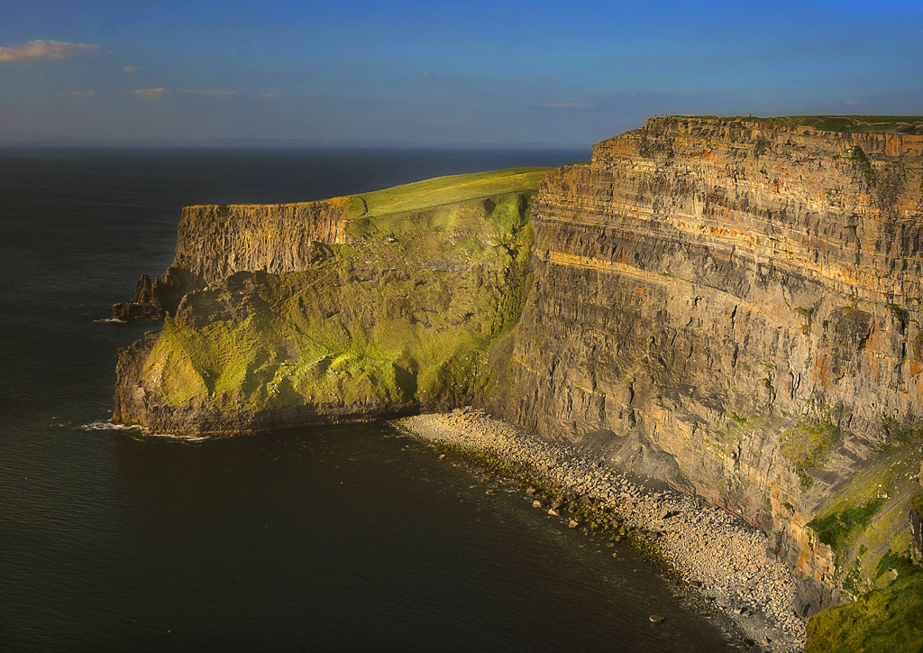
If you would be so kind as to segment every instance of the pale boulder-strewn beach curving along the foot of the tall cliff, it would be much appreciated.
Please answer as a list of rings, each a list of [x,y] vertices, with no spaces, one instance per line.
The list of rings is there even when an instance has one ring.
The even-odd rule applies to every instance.
[[[752,642],[751,649],[804,649],[806,621],[792,609],[795,584],[783,563],[767,557],[765,534],[741,518],[662,484],[627,478],[574,446],[518,429],[480,409],[405,417],[395,424],[457,451],[486,454],[611,515],[619,532],[633,534],[629,541],[642,542],[642,552],[670,568],[682,590],[716,623]],[[560,501],[540,497],[533,487],[523,490],[526,501],[560,518],[562,526],[588,526]],[[652,615],[652,620],[659,616],[669,618]]]

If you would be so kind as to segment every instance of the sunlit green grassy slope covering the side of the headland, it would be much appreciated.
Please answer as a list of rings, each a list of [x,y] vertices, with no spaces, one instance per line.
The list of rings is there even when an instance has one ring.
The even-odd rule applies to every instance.
[[[187,297],[146,378],[170,405],[222,411],[477,392],[485,353],[521,312],[528,210],[545,172],[440,177],[351,199],[351,245],[326,246],[327,260],[305,272],[239,273],[250,291]],[[247,308],[256,304],[266,308]],[[229,305],[246,319],[193,326]]]

